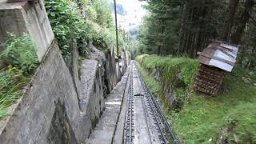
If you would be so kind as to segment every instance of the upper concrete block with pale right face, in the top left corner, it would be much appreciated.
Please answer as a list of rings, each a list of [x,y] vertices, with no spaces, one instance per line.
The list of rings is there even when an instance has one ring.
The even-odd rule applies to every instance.
[[[6,3],[6,0],[0,0],[0,23],[0,43],[5,41],[7,32],[30,34],[38,48],[39,61],[54,40],[42,1]]]

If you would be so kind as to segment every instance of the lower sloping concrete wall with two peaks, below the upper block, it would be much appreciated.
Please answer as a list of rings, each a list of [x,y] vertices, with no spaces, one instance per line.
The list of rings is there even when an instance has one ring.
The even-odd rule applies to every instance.
[[[81,90],[77,94],[57,42],[51,46],[30,87],[9,117],[0,143],[83,142],[104,109],[98,62],[82,62]]]

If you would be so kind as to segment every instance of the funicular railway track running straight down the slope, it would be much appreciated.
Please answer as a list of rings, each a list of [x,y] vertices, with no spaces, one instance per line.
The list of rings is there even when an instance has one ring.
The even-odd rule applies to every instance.
[[[128,94],[124,143],[179,143],[134,62]]]

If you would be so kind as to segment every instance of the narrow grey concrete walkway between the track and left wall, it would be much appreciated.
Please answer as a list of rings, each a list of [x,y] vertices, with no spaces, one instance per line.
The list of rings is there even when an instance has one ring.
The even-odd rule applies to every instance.
[[[114,140],[115,130],[118,126],[118,119],[122,110],[122,102],[126,95],[126,87],[129,79],[130,69],[126,70],[126,73],[122,77],[122,80],[118,82],[117,86],[112,90],[106,99],[102,117],[100,118],[98,125],[90,134],[86,143],[88,144],[110,144]]]

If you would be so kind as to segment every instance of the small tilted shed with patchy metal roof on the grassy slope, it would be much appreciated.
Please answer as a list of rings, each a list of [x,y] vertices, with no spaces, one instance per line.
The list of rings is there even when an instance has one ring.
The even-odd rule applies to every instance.
[[[198,52],[200,67],[194,89],[215,96],[222,85],[226,71],[233,70],[239,46],[227,42],[212,41],[202,52]]]

